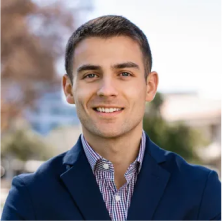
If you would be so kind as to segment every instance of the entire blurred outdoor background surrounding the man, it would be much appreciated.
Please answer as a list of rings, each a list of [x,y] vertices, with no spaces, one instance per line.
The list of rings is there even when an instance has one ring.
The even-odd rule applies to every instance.
[[[222,177],[221,0],[0,0],[0,217],[13,176],[36,171],[81,133],[61,91],[65,45],[105,14],[130,19],[151,45],[160,85],[145,131]]]

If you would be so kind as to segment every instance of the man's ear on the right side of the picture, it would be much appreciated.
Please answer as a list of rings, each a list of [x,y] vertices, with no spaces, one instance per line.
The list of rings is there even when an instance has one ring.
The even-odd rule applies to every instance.
[[[159,76],[157,74],[157,72],[152,71],[149,73],[148,77],[147,77],[147,91],[146,91],[146,101],[151,102],[157,92],[157,87],[159,84]]]

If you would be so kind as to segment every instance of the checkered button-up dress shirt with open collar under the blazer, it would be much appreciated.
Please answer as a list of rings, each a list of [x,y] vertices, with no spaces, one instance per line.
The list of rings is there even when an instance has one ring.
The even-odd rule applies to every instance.
[[[83,135],[81,135],[81,141],[111,220],[125,221],[127,219],[127,213],[137,180],[137,175],[142,166],[146,142],[145,132],[143,131],[142,134],[137,159],[129,166],[124,175],[126,183],[118,190],[114,182],[113,164],[96,153],[87,143]]]

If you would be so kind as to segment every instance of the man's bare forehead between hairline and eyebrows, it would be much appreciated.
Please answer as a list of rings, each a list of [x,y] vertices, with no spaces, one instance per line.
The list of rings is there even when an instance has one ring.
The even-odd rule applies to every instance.
[[[83,64],[113,65],[121,62],[134,62],[143,66],[143,55],[139,44],[126,36],[82,40],[73,54],[73,67]]]

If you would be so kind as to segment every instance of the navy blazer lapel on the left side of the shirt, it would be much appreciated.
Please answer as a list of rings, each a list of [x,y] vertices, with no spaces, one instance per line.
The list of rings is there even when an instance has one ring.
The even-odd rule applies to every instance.
[[[64,163],[67,171],[60,177],[87,221],[110,221],[92,169],[82,148],[81,139],[67,152]]]

